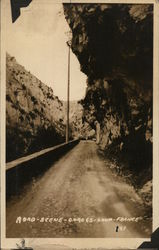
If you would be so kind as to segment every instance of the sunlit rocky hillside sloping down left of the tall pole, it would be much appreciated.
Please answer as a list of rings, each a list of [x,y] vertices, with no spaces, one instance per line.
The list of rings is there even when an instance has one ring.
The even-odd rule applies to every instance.
[[[6,56],[7,161],[65,139],[63,103],[53,90]]]

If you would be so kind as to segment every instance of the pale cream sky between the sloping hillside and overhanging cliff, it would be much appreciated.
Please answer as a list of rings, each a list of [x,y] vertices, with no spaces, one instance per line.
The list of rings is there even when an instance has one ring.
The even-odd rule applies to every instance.
[[[15,23],[6,0],[6,51],[39,80],[52,87],[61,100],[67,98],[69,26],[61,3],[33,0]],[[70,55],[70,100],[85,95],[86,75],[76,56]]]

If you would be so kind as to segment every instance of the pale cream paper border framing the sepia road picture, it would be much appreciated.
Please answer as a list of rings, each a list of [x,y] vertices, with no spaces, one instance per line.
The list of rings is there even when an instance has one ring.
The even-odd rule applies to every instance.
[[[34,1],[34,0],[33,0]],[[45,4],[49,1],[54,1],[54,3],[62,3],[60,0],[41,0],[45,1]],[[64,1],[65,3],[70,3],[70,0]],[[71,0],[71,3],[147,3],[154,4],[154,68],[153,68],[153,231],[159,227],[159,2],[149,1],[149,0]],[[1,99],[0,99],[0,115],[1,115],[1,126],[0,126],[0,136],[1,136],[1,241],[2,248],[14,248],[20,239],[9,239],[5,238],[5,0],[1,0]],[[99,248],[105,247],[107,249],[111,248],[138,248],[144,241],[150,241],[146,238],[27,238],[26,245],[35,246],[52,244],[53,245],[65,245],[70,248]]]

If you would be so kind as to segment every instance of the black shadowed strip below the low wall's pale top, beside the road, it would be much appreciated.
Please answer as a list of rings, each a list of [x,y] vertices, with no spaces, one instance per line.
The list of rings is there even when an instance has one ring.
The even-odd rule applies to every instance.
[[[53,152],[48,152],[39,157],[21,163],[6,172],[6,199],[23,192],[25,184],[30,183],[38,176],[41,176],[55,163],[61,156],[64,156],[78,142],[59,147]]]

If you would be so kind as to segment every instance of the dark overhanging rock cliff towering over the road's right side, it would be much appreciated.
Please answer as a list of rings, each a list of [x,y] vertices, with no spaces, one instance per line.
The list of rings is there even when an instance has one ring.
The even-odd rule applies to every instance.
[[[72,51],[87,76],[84,120],[100,124],[100,146],[114,147],[140,171],[152,163],[153,7],[64,4]]]

